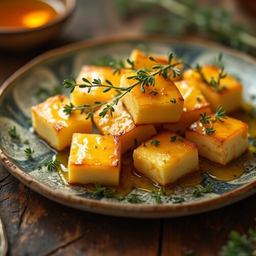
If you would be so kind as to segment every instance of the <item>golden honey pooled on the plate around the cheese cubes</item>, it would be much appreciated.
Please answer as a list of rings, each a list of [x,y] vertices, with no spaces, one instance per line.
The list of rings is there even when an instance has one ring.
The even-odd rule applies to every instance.
[[[233,113],[231,116],[248,123],[250,138],[255,137],[255,116],[250,116],[247,112],[244,112],[243,110]],[[253,158],[252,152],[254,150],[255,148],[251,146],[250,149],[245,154],[243,154],[238,159],[233,160],[226,166],[220,166],[208,160],[200,158],[200,171],[182,177],[176,183],[170,184],[169,186],[165,187],[166,195],[173,194],[175,186],[177,185],[180,185],[182,187],[199,185],[203,181],[203,173],[209,175],[211,179],[218,181],[231,181],[239,178],[245,173],[244,165],[249,159]],[[61,165],[58,167],[58,174],[63,184],[65,184],[66,186],[70,185],[68,181],[67,168],[69,152],[70,150],[69,148],[67,148],[66,150],[56,155],[56,159],[61,161]],[[88,191],[94,190],[94,185],[86,185],[85,187]],[[143,177],[136,171],[136,169],[133,166],[132,152],[130,152],[122,156],[120,182],[119,186],[114,188],[116,189],[117,193],[127,195],[134,188],[151,193],[152,190],[158,190],[161,189],[162,187],[156,182],[146,177]]]

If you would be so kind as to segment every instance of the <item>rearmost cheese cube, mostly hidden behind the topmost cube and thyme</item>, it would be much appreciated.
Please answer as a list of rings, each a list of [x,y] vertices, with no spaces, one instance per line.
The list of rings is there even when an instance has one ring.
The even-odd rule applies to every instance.
[[[156,61],[153,61],[149,59],[148,57],[151,56],[153,57]],[[141,50],[139,49],[134,49],[131,53],[130,59],[134,61],[134,68],[135,69],[146,69],[146,70],[151,70],[153,66],[155,65],[168,65],[168,57],[165,55],[159,55],[159,54],[144,54]],[[173,58],[172,64],[177,63],[180,59],[178,58]],[[182,70],[183,65],[178,64],[175,66],[175,68],[178,68],[179,70]],[[173,81],[178,81],[180,80],[180,76],[176,76],[175,78],[173,77],[173,71],[170,71],[170,79]]]

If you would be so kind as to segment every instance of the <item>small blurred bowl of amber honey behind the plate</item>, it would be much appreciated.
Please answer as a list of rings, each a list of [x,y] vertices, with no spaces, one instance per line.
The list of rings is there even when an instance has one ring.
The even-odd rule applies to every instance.
[[[52,38],[66,23],[75,0],[0,0],[0,49],[23,51]]]

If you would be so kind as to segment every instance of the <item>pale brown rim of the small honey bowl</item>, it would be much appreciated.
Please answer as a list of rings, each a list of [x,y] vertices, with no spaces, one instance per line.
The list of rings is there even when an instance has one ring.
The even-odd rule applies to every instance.
[[[9,1],[11,1],[11,0],[9,0]],[[60,0],[60,1],[63,2],[62,0]],[[51,4],[49,4],[49,5],[51,6]],[[56,18],[54,18],[50,22],[46,23],[45,25],[35,27],[35,28],[20,28],[20,29],[19,28],[3,29],[3,27],[0,27],[0,36],[17,35],[17,34],[23,34],[23,33],[33,33],[35,31],[40,31],[40,30],[50,28],[54,25],[64,22],[66,19],[68,19],[71,16],[71,14],[74,12],[75,7],[76,7],[76,0],[66,0],[65,12],[58,15]]]

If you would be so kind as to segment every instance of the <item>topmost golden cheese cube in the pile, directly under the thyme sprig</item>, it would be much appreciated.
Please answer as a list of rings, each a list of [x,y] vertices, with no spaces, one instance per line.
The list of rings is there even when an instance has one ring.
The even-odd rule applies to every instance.
[[[120,87],[136,83],[136,79],[129,79],[135,75],[137,73],[123,75]],[[180,120],[184,99],[173,81],[156,75],[155,86],[144,89],[145,93],[138,84],[122,98],[135,124],[177,123]]]

